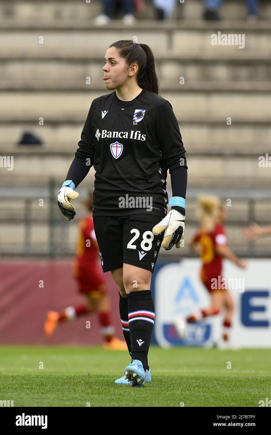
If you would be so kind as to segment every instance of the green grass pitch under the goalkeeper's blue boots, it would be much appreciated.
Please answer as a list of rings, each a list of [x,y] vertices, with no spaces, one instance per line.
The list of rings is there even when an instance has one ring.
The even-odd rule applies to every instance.
[[[14,406],[256,406],[271,398],[271,350],[152,346],[152,381],[114,384],[124,351],[87,346],[0,346],[0,400]],[[230,367],[231,363],[231,368]],[[42,367],[43,368],[39,368]]]

